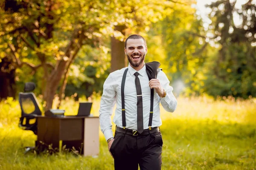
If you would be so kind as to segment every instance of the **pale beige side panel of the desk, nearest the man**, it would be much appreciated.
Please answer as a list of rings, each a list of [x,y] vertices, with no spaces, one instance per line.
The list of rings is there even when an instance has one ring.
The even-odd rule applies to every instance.
[[[84,118],[84,156],[99,155],[99,118]]]

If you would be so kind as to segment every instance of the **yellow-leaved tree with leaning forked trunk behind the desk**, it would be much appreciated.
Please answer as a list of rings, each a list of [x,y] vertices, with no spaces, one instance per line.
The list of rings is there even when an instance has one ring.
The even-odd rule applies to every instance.
[[[100,37],[111,34],[111,20],[116,17],[110,17],[109,12],[113,10],[90,0],[7,0],[1,8],[5,18],[1,21],[1,51],[12,57],[15,68],[43,68],[46,110],[52,107],[61,79],[81,47],[100,44]]]

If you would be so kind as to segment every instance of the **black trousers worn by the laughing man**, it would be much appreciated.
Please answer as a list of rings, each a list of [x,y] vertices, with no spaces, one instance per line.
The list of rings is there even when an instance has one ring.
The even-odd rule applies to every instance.
[[[161,170],[163,140],[160,131],[146,136],[115,132],[110,151],[115,170]]]

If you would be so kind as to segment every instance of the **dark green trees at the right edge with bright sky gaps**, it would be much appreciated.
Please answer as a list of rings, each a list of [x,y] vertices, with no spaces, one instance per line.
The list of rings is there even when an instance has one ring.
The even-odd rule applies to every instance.
[[[249,0],[241,9],[229,0],[218,0],[208,6],[212,41],[218,52],[205,63],[205,91],[212,96],[256,96],[256,5]],[[240,16],[242,22],[236,23]],[[235,21],[236,22],[235,22]]]

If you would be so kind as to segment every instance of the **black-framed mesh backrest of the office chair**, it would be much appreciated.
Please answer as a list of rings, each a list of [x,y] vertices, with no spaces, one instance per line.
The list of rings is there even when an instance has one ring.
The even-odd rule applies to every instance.
[[[19,93],[21,116],[28,114],[42,115],[39,103],[33,92]]]

